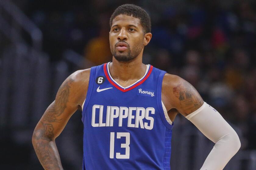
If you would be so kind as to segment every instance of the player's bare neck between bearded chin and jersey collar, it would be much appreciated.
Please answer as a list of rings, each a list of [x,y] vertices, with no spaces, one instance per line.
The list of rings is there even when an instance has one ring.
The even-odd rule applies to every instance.
[[[144,76],[147,66],[142,63],[142,56],[137,56],[132,62],[119,62],[113,57],[109,64],[109,72],[116,81],[126,82],[138,80]]]

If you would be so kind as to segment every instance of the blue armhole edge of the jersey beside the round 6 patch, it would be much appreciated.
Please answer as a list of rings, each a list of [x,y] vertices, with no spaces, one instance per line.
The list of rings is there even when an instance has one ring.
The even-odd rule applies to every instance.
[[[85,117],[85,110],[87,107],[87,104],[89,103],[90,97],[91,97],[91,93],[92,93],[92,89],[94,86],[94,77],[95,77],[95,73],[96,73],[96,66],[95,67],[91,67],[90,70],[90,78],[89,78],[89,84],[88,84],[88,90],[87,90],[87,94],[84,100],[84,103],[82,105],[82,122],[84,123],[84,117]]]

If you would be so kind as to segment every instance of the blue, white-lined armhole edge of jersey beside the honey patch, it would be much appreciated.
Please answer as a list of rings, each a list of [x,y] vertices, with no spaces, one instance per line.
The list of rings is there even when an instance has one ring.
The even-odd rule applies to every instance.
[[[158,111],[160,113],[160,117],[162,119],[163,124],[168,129],[172,129],[173,122],[170,120],[170,118],[167,114],[167,110],[166,110],[165,106],[162,104],[162,82],[163,82],[163,78],[164,78],[165,73],[166,73],[165,71],[161,71],[161,73],[158,77],[156,102],[157,102]],[[166,114],[165,114],[164,109],[166,110]],[[167,121],[168,119],[172,124],[170,124],[169,121]]]

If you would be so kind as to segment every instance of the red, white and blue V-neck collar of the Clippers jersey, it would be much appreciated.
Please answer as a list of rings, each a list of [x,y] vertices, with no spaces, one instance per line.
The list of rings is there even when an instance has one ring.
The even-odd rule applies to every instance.
[[[146,69],[146,72],[144,74],[144,76],[142,78],[140,78],[139,80],[137,80],[135,83],[131,84],[130,86],[127,86],[127,87],[123,87],[121,86],[119,83],[117,83],[110,75],[110,72],[109,72],[109,63],[111,62],[108,62],[108,63],[105,63],[104,64],[104,73],[105,73],[105,76],[107,77],[108,81],[114,86],[116,87],[118,90],[121,90],[122,92],[126,92],[126,91],[129,91],[129,90],[132,90],[134,89],[135,87],[139,86],[140,84],[142,84],[145,80],[147,80],[147,78],[149,77],[149,75],[151,74],[152,70],[153,70],[153,66],[151,66],[150,64],[147,65],[147,69]]]

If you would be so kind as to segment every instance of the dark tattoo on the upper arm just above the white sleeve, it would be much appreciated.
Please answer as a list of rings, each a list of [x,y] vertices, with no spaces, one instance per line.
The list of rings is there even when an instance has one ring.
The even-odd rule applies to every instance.
[[[173,87],[172,92],[179,99],[180,110],[185,115],[194,112],[204,103],[197,90],[188,82],[183,82]]]

